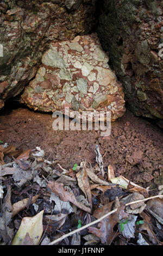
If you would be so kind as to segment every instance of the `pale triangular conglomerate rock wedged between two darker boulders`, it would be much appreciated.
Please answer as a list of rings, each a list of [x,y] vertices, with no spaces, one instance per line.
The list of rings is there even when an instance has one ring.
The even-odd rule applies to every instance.
[[[109,68],[97,34],[53,42],[42,56],[36,77],[22,101],[43,112],[111,111],[111,121],[125,112],[122,85]]]

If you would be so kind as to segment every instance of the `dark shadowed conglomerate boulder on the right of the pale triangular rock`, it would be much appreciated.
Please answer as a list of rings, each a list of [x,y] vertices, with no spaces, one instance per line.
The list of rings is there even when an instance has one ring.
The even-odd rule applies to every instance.
[[[98,36],[129,107],[136,115],[163,119],[163,2],[103,0],[98,9]]]

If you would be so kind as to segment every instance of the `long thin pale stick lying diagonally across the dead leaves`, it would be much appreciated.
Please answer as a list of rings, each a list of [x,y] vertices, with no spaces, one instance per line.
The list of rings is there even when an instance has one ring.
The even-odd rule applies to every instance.
[[[140,203],[140,202],[145,202],[145,201],[147,201],[147,200],[149,200],[149,199],[153,199],[153,198],[157,198],[157,197],[163,198],[163,195],[158,195],[158,196],[153,196],[153,197],[148,197],[148,198],[145,198],[145,199],[133,201],[133,202],[127,203],[127,204],[125,205],[125,207],[126,207],[127,205],[136,204],[136,203]],[[54,240],[54,241],[48,243],[48,245],[54,245],[54,243],[58,243],[59,241],[65,239],[66,237],[68,237],[68,236],[70,236],[70,235],[73,235],[73,234],[75,234],[75,233],[77,233],[77,232],[79,232],[79,231],[81,231],[81,230],[83,230],[83,229],[85,229],[85,228],[87,228],[87,227],[90,227],[90,226],[93,225],[93,224],[96,224],[96,223],[102,221],[102,220],[103,220],[104,218],[106,218],[107,216],[109,216],[109,215],[111,215],[111,214],[114,214],[114,212],[116,212],[117,210],[118,210],[118,208],[116,208],[116,209],[114,209],[114,210],[108,212],[108,214],[105,214],[105,215],[102,216],[101,218],[98,218],[98,220],[93,221],[93,222],[91,222],[91,223],[89,223],[89,224],[86,224],[86,225],[84,225],[83,227],[78,228],[78,229],[76,229],[76,230],[73,230],[73,231],[71,231],[70,233],[68,233],[68,234],[66,234],[66,235],[63,235],[63,236],[61,236],[60,238],[58,238],[58,239],[56,239],[56,240]]]

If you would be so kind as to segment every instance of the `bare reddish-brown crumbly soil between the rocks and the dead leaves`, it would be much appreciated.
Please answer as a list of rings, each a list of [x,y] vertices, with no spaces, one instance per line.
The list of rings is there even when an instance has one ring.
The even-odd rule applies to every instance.
[[[35,149],[39,146],[48,160],[58,160],[65,169],[82,160],[95,166],[95,146],[104,155],[104,169],[109,164],[115,176],[123,175],[137,185],[158,192],[163,185],[162,130],[143,118],[127,111],[112,123],[111,135],[101,137],[98,131],[54,131],[52,114],[30,111],[26,108],[2,109],[0,112],[0,139],[17,149]],[[56,164],[56,169],[58,165]],[[54,168],[55,168],[54,167]]]

